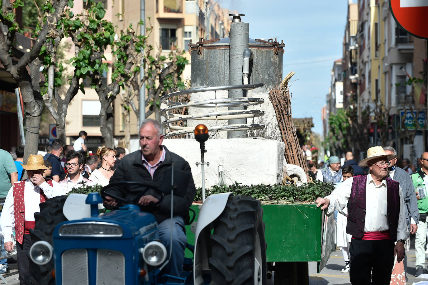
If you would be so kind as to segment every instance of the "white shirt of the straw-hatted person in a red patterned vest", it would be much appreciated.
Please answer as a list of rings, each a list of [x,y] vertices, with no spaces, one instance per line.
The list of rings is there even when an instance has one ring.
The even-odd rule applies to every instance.
[[[20,183],[21,181],[15,182]],[[58,182],[52,180],[50,186],[47,182],[43,182],[39,186],[34,186],[30,180],[25,180],[24,188],[24,207],[26,221],[34,221],[34,213],[40,212],[40,189],[43,190],[46,198],[52,198],[60,195],[64,195],[61,185]],[[6,200],[4,201],[3,210],[0,216],[0,234],[2,235],[4,242],[12,241],[13,230],[15,229],[15,214],[13,212],[13,185],[7,193]]]

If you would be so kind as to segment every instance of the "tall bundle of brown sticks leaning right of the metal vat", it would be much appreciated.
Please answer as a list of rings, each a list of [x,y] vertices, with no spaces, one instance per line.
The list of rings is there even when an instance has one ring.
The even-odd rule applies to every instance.
[[[276,120],[278,121],[279,130],[281,132],[282,141],[285,144],[285,159],[288,164],[298,165],[306,172],[308,176],[308,168],[306,166],[306,159],[303,157],[302,150],[299,146],[297,139],[296,129],[293,123],[293,116],[291,115],[291,96],[288,90],[288,81],[294,72],[288,73],[280,87],[274,85],[269,90],[269,99],[272,102],[273,108],[276,113]]]

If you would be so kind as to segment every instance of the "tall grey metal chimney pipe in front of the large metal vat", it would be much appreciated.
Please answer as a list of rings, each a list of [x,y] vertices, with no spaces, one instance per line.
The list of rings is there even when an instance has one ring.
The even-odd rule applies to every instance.
[[[242,14],[231,14],[233,21],[230,23],[230,46],[229,46],[229,85],[242,83],[242,54],[248,48],[250,24],[242,23]],[[245,90],[229,90],[229,98],[245,97]],[[228,110],[244,110],[244,107],[229,107]],[[247,119],[228,120],[228,124],[247,124]],[[247,138],[247,131],[228,132],[227,138]]]

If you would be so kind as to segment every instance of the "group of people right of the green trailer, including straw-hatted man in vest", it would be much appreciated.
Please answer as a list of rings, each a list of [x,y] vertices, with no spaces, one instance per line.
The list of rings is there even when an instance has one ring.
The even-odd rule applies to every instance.
[[[410,235],[415,238],[415,276],[427,273],[428,152],[421,154],[417,168],[408,159],[400,166],[393,147],[378,146],[359,163],[348,152],[342,166],[331,156],[325,168],[309,171],[336,186],[316,202],[327,214],[338,213],[336,245],[345,261],[342,272],[349,272],[352,284],[404,284],[404,244],[408,249]]]

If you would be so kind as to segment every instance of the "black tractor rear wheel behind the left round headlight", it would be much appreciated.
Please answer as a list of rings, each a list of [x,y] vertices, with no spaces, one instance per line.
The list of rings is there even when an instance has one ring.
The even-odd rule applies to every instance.
[[[36,224],[34,229],[30,230],[31,245],[36,241],[44,240],[53,246],[53,229],[59,223],[67,221],[62,213],[62,207],[64,207],[67,197],[67,195],[57,196],[40,203],[40,213],[34,213]],[[55,268],[53,260],[54,258],[48,264],[38,265],[30,259],[28,281],[35,285],[55,285],[55,278],[51,276],[51,272]]]

